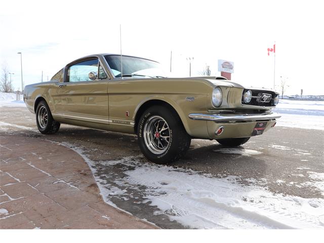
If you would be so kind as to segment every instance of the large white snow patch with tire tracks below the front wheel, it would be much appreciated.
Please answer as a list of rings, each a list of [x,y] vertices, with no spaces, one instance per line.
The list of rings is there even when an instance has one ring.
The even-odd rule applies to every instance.
[[[318,220],[321,213],[312,210],[308,199],[272,194],[254,185],[241,186],[233,178],[190,173],[142,166],[127,171],[126,181],[145,185],[152,206],[192,228],[321,227]]]

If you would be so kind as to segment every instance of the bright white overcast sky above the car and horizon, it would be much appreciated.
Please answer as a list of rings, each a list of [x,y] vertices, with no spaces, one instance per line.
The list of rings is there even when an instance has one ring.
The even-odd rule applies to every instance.
[[[95,53],[119,53],[159,61],[172,75],[192,76],[217,60],[234,62],[232,80],[273,87],[288,78],[287,94],[324,95],[321,1],[2,1],[0,64],[15,89],[49,79],[68,62]]]

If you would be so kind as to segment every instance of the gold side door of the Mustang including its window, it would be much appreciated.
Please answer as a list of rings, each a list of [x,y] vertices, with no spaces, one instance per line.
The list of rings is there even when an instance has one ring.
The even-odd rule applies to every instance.
[[[58,83],[54,116],[108,125],[108,75],[97,57],[74,62],[65,68]]]

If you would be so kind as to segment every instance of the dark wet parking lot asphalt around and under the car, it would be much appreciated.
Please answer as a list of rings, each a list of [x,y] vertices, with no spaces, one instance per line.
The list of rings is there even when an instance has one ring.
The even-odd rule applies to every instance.
[[[26,108],[0,107],[2,127],[0,133],[15,134],[24,138],[47,139],[54,142],[67,142],[87,148],[87,156],[92,161],[117,160],[126,156],[141,156],[134,135],[93,130],[82,127],[62,125],[54,135],[42,135],[37,131],[34,114]],[[1,125],[1,124],[0,124]],[[303,198],[324,198],[318,188],[307,189],[292,186],[291,182],[301,184],[309,180],[303,168],[322,173],[324,131],[286,127],[274,127],[262,136],[252,137],[241,150],[229,150],[216,141],[194,139],[184,158],[170,165],[173,168],[191,169],[208,173],[213,177],[238,176],[242,179],[265,181],[264,187],[273,193],[300,196]],[[146,160],[145,160],[146,161]],[[147,162],[147,161],[146,161]],[[105,176],[118,177],[120,168],[106,171],[97,168]],[[99,176],[100,176],[99,175]],[[243,183],[249,183],[246,180]],[[250,180],[251,181],[251,180]],[[147,205],[136,205],[132,200],[111,198],[113,203],[133,215],[153,222],[153,209]],[[183,228],[166,218],[155,220],[162,228]]]

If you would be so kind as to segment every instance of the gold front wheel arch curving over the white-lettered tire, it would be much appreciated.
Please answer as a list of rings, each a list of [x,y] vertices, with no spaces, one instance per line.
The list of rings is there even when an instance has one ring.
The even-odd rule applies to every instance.
[[[134,117],[133,117],[133,120],[135,121],[135,125],[134,125],[135,134],[137,134],[137,125],[138,125],[141,115],[148,107],[153,106],[153,105],[166,106],[169,109],[173,110],[179,116],[180,120],[182,121],[182,125],[184,126],[186,132],[188,133],[187,120],[185,119],[185,115],[182,112],[182,110],[180,109],[180,107],[172,100],[166,101],[165,99],[160,99],[160,98],[154,97],[152,99],[143,101],[136,107],[135,112],[134,112]]]

